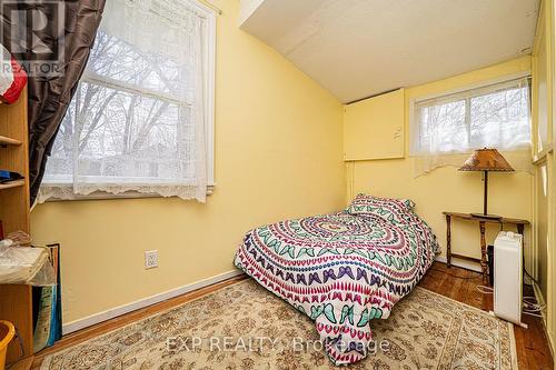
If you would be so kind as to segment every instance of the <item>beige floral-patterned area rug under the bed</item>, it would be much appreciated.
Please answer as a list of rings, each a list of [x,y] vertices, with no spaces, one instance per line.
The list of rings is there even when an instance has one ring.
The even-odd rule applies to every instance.
[[[514,369],[512,324],[423,288],[373,321],[369,356],[341,369]],[[335,369],[314,322],[251,279],[93,338],[41,369]]]

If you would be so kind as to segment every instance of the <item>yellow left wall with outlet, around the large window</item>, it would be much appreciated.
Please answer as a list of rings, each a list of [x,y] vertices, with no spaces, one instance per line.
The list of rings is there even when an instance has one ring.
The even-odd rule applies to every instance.
[[[342,106],[237,28],[236,0],[215,1],[216,190],[178,199],[50,202],[32,212],[36,242],[62,244],[64,323],[234,269],[244,233],[340,209]],[[159,268],[143,269],[158,249]]]

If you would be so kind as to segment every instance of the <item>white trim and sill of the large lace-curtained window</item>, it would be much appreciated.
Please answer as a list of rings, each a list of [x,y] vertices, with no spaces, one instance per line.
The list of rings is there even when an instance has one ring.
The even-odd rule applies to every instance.
[[[207,80],[205,86],[205,137],[207,138],[207,196],[212,194],[216,182],[215,182],[215,96],[216,96],[216,16],[217,11],[205,3],[196,0],[182,0],[187,2],[191,8],[193,8],[200,17],[206,20],[206,28],[203,29],[207,32],[206,42],[202,44],[203,57],[206,58],[206,67],[207,67]],[[212,51],[212,52],[210,52]],[[110,83],[110,79],[93,74],[91,72],[83,72],[82,81],[93,81],[101,82],[103,84]],[[125,86],[117,81],[115,84],[118,86],[118,89],[125,88]],[[137,87],[132,88],[133,90]],[[148,94],[147,90],[140,91],[142,94]],[[157,97],[160,98],[160,94],[157,93]],[[173,97],[166,97],[168,100],[175,100]],[[49,186],[57,187],[68,187],[72,188],[73,183],[53,183],[49,182]],[[156,193],[143,193],[139,191],[126,191],[119,194],[112,194],[105,191],[95,191],[90,194],[73,194],[73,197],[69,199],[59,199],[59,198],[49,198],[47,202],[57,202],[57,201],[68,201],[68,200],[102,200],[102,199],[136,199],[136,198],[163,198],[160,194]],[[175,197],[170,197],[175,198]]]

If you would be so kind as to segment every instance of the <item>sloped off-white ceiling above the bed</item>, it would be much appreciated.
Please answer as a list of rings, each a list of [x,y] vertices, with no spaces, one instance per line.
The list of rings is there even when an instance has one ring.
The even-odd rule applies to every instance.
[[[240,28],[350,102],[530,53],[538,0],[241,0]]]

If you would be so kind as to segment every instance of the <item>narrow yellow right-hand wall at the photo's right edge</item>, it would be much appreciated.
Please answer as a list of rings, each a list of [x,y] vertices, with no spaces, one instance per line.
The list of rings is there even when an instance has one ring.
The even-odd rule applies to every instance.
[[[536,278],[539,289],[536,290],[540,300],[547,303],[544,312],[546,329],[552,348],[556,343],[556,213],[554,210],[556,196],[556,169],[554,161],[554,89],[555,72],[555,9],[553,0],[543,0],[533,49],[533,133],[534,152],[536,153],[534,198],[535,216],[535,257]]]

